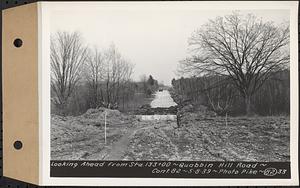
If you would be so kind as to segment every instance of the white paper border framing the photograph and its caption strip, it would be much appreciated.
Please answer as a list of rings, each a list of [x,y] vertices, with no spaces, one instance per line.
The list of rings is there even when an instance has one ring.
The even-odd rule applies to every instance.
[[[100,6],[101,5],[101,6]],[[139,8],[157,5],[190,9],[290,10],[290,162],[291,179],[181,178],[54,178],[50,177],[50,19],[57,10]],[[166,6],[168,7],[168,6]],[[298,2],[297,1],[156,1],[156,2],[38,2],[40,185],[65,186],[267,186],[299,185],[298,174]]]

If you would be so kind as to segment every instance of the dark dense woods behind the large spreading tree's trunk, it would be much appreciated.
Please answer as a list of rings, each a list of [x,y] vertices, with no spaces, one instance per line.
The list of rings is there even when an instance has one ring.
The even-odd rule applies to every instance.
[[[173,89],[194,105],[206,105],[218,115],[243,115],[245,101],[230,79],[222,76],[190,77],[172,80]],[[251,97],[251,111],[258,115],[289,115],[290,72],[272,73]]]

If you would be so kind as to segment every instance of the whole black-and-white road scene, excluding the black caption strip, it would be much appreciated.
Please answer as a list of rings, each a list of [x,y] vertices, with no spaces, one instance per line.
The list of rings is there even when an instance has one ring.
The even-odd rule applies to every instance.
[[[51,160],[290,161],[290,12],[51,16]]]

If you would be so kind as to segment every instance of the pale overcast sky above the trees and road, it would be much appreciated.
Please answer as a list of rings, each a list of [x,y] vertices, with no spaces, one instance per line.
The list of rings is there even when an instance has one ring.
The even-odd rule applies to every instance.
[[[51,33],[79,31],[91,47],[108,48],[114,43],[134,65],[133,79],[153,75],[170,85],[176,78],[178,61],[188,55],[187,40],[192,32],[209,19],[230,14],[233,10],[193,10],[172,8],[64,10],[51,15]],[[249,10],[264,20],[283,23],[287,10]]]

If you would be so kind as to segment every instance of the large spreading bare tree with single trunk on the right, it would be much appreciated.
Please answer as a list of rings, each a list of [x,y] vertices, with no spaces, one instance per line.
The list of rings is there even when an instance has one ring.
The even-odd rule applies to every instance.
[[[210,20],[189,40],[193,55],[180,64],[184,73],[229,77],[251,114],[251,97],[273,72],[288,67],[289,27],[237,12]]]

